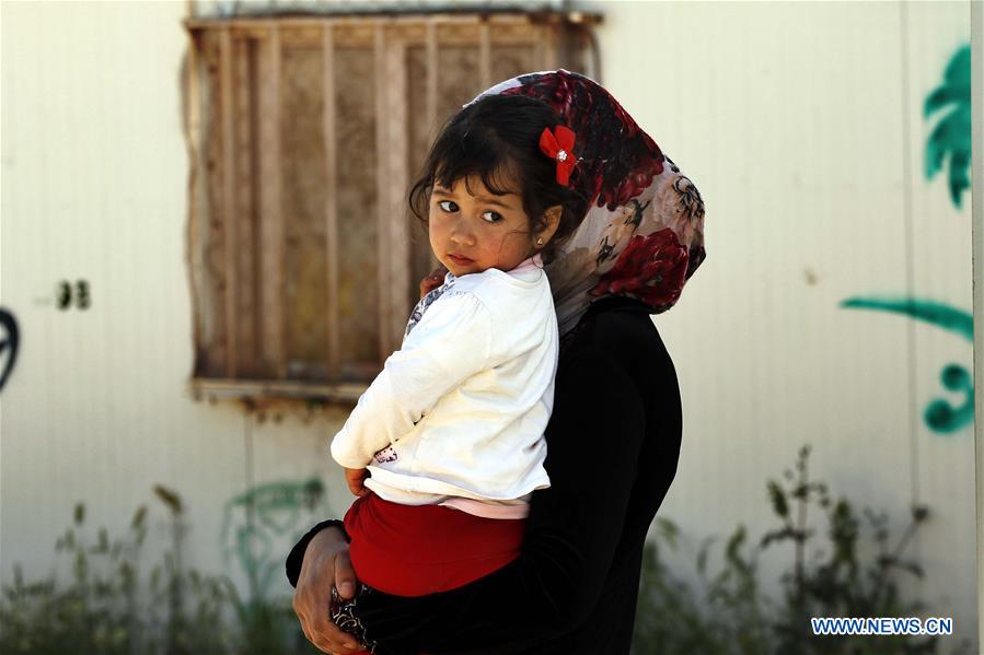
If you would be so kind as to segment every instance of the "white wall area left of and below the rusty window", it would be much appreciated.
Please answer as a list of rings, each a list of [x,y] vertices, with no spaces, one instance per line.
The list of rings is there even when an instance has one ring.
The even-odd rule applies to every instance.
[[[146,503],[163,541],[154,483],[185,500],[188,561],[234,574],[220,531],[227,504],[248,484],[329,470],[324,435],[344,414],[261,425],[251,453],[238,407],[186,390],[184,11],[3,4],[2,305],[21,332],[0,395],[3,581],[14,562],[31,575],[49,570],[77,501],[113,534]],[[56,308],[58,282],[79,279],[91,307]],[[329,498],[335,511],[347,503],[341,488]]]

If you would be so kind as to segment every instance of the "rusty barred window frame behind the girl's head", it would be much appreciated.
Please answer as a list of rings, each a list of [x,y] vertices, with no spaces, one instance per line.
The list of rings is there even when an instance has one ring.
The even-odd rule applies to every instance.
[[[262,16],[188,20],[185,128],[192,160],[188,264],[194,318],[193,393],[200,397],[300,397],[350,402],[398,347],[413,307],[412,260],[436,266],[432,255],[413,252],[405,195],[407,130],[424,120],[430,137],[439,115],[442,48],[474,49],[477,79],[461,89],[467,98],[495,82],[497,48],[525,47],[532,68],[579,70],[598,79],[591,27],[599,16],[522,12],[421,15]],[[287,48],[320,48],[325,206],[325,271],[317,296],[324,301],[323,362],[298,376],[288,361],[287,222],[283,210],[285,117],[281,73]],[[407,49],[422,48],[426,73],[422,109],[408,118]],[[375,120],[377,303],[374,356],[343,376],[347,343],[340,336],[338,198],[338,52],[361,48],[372,57]],[[418,50],[419,51],[419,50]],[[251,59],[252,58],[252,59]],[[257,70],[265,71],[259,75]],[[252,71],[252,72],[251,72]],[[523,72],[517,70],[509,74]],[[472,78],[470,78],[471,80]],[[499,78],[501,79],[501,78]],[[211,80],[211,82],[209,81]],[[419,116],[422,110],[424,116]],[[422,153],[415,153],[415,157]],[[416,165],[419,165],[417,163]],[[262,192],[261,192],[262,191]],[[251,223],[252,221],[252,223]],[[250,239],[253,241],[250,241]],[[236,247],[228,247],[234,244]],[[262,244],[262,248],[258,245]],[[429,261],[421,261],[421,257]],[[419,272],[419,270],[417,271]],[[309,281],[309,284],[311,282]],[[309,289],[310,291],[310,289]],[[257,353],[261,352],[262,356]],[[255,361],[265,362],[262,370]],[[351,366],[350,366],[351,369]]]

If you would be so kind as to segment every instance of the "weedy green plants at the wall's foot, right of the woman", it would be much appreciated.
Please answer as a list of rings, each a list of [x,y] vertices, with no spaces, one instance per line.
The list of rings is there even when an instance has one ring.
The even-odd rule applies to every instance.
[[[865,510],[863,522],[846,499],[832,501],[826,483],[811,479],[809,455],[804,446],[782,482],[766,483],[778,527],[755,543],[749,542],[744,526],[736,528],[714,574],[708,561],[716,538],[702,541],[695,586],[664,562],[664,550],[681,543],[679,528],[663,518],[653,523],[655,539],[646,545],[643,560],[635,654],[936,652],[936,638],[813,635],[811,617],[918,615],[922,604],[902,596],[899,580],[923,575],[918,563],[905,558],[905,549],[929,512],[913,507],[904,531],[890,543],[888,516]],[[819,510],[826,523],[822,546],[815,545],[818,535],[810,527],[811,510]],[[791,548],[791,569],[783,573],[779,597],[773,598],[761,590],[760,559],[784,546]]]

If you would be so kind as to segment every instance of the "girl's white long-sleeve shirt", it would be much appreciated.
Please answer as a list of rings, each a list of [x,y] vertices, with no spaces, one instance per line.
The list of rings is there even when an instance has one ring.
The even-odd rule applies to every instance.
[[[539,260],[539,258],[535,258]],[[534,259],[460,278],[427,307],[332,441],[366,486],[407,505],[513,518],[549,486],[557,318]]]

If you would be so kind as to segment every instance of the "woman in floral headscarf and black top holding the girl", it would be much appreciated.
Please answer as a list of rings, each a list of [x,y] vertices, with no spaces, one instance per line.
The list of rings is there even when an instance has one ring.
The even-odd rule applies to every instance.
[[[532,73],[482,95],[499,93],[540,98],[560,114],[581,144],[577,185],[592,199],[545,267],[562,336],[546,428],[551,488],[533,494],[519,559],[450,592],[360,595],[340,606],[344,627],[381,655],[624,654],[643,545],[682,433],[676,374],[649,315],[676,302],[704,259],[704,204],[591,80]],[[326,653],[359,651],[326,610],[333,584],[341,598],[355,589],[338,522],[312,529],[287,569],[308,639]]]

